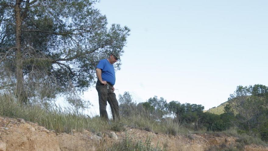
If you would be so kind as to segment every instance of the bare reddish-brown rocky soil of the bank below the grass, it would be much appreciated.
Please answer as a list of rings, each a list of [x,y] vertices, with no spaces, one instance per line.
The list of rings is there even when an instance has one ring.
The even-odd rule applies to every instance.
[[[237,139],[225,135],[173,136],[129,127],[125,129],[124,132],[106,131],[102,134],[87,130],[55,133],[23,119],[0,117],[0,151],[95,151],[121,141],[126,135],[134,141],[145,142],[151,138],[152,145],[159,144],[167,150],[205,151],[209,146],[230,146]],[[268,151],[268,148],[250,145],[245,147],[245,151]]]

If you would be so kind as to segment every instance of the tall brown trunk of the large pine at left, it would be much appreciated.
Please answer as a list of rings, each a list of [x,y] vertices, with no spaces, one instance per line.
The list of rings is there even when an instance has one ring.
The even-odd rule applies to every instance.
[[[25,103],[26,102],[26,93],[23,85],[23,58],[21,52],[21,24],[22,19],[20,17],[20,0],[16,0],[15,5],[15,19],[16,19],[16,59],[15,59],[15,74],[16,74],[16,90],[15,95],[17,97],[18,102]]]

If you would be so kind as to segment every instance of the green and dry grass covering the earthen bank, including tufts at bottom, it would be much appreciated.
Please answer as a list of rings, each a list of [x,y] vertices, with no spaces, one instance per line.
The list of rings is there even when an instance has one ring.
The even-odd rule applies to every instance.
[[[16,103],[12,95],[0,95],[0,116],[11,118],[23,118],[46,127],[49,130],[56,132],[70,133],[73,129],[78,132],[83,129],[98,133],[107,130],[124,131],[124,125],[139,128],[146,131],[164,133],[170,135],[189,135],[191,133],[222,133],[230,136],[238,137],[238,144],[241,146],[247,144],[262,144],[260,139],[250,137],[248,135],[239,135],[236,130],[230,129],[224,132],[208,132],[205,130],[194,131],[189,128],[180,126],[174,123],[171,119],[165,121],[156,121],[146,117],[144,114],[133,114],[129,117],[122,117],[120,123],[107,124],[100,117],[89,117],[78,110],[71,108],[62,109],[59,106],[50,108],[42,108],[41,106],[22,106]],[[150,145],[150,138],[145,143],[135,142],[131,139],[114,144],[110,147],[111,150],[164,150],[159,146],[153,147]],[[218,148],[214,150],[219,150]]]

